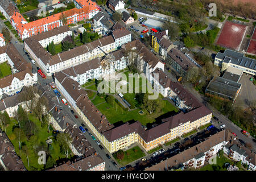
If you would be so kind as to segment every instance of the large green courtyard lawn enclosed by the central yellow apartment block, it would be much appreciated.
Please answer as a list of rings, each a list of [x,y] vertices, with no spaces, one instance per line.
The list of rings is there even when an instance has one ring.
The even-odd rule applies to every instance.
[[[123,71],[123,73],[125,73],[125,75],[128,75],[130,72],[129,71]],[[146,79],[146,78],[145,78]],[[138,94],[142,94],[141,90],[142,90],[142,85],[143,81],[142,78],[140,79],[140,84],[139,84],[139,90],[140,93]],[[135,83],[133,81],[134,87],[135,88]],[[129,82],[128,82],[129,85]],[[115,90],[113,90],[113,94],[112,93],[107,93],[107,94],[97,94],[96,93],[96,85],[95,85],[95,81],[90,81],[89,83],[86,83],[84,85],[82,85],[85,89],[89,89],[92,90],[93,94],[92,96],[89,96],[89,98],[92,100],[93,104],[98,108],[98,110],[101,111],[102,114],[106,115],[106,118],[108,118],[108,121],[110,123],[117,123],[117,122],[127,122],[127,121],[139,121],[142,123],[142,125],[147,125],[147,123],[153,123],[155,121],[158,121],[160,116],[162,116],[163,114],[167,114],[167,115],[172,115],[177,113],[177,109],[174,105],[172,105],[169,101],[166,100],[162,100],[163,96],[161,94],[159,94],[159,105],[160,108],[157,112],[153,112],[150,114],[150,112],[144,107],[143,104],[139,103],[140,101],[138,100],[138,96],[137,94],[133,93],[123,93],[123,98],[125,98],[125,100],[127,102],[129,102],[129,104],[131,105],[130,108],[128,107],[123,107],[121,105],[121,101],[123,98],[120,98],[118,96],[118,94],[115,92]],[[127,86],[128,89],[129,86]],[[110,90],[109,90],[110,91]],[[134,90],[133,90],[134,91]],[[109,104],[108,102],[106,102],[106,97],[108,95],[112,95],[115,98],[115,102],[113,102],[113,104]],[[143,95],[141,95],[141,97],[143,97]],[[119,103],[118,103],[119,102]],[[139,113],[139,111],[143,111],[143,113]]]

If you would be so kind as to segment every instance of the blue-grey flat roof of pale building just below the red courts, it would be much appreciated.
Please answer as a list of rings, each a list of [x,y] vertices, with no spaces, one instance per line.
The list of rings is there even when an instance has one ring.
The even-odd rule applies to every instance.
[[[241,67],[254,69],[256,71],[256,60],[245,57],[243,53],[226,49],[224,53],[218,52],[216,58],[223,60],[225,63],[232,63]]]

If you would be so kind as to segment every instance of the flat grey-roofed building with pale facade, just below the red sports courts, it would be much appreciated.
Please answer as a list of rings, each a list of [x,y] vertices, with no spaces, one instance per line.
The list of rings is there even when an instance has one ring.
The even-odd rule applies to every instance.
[[[256,75],[256,60],[230,49],[225,49],[224,53],[218,52],[214,59],[214,65],[221,67],[222,72],[233,67],[242,70],[243,73]]]

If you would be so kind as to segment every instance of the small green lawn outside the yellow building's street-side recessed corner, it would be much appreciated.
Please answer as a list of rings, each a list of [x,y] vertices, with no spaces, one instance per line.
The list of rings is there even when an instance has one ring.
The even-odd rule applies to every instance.
[[[141,150],[141,148],[139,148],[139,146],[135,146],[135,147],[125,151],[125,155],[122,160],[117,159],[117,156],[115,154],[113,154],[113,156],[121,166],[125,166],[126,164],[129,164],[129,163],[133,162],[134,160],[143,158],[143,156],[145,156],[145,154]]]

